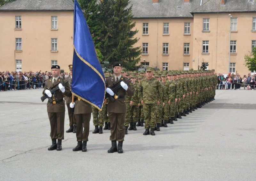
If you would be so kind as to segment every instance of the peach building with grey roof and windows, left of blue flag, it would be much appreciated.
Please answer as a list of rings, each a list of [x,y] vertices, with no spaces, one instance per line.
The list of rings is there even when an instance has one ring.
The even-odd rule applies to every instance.
[[[73,59],[72,0],[17,0],[0,7],[0,71],[68,70]]]

